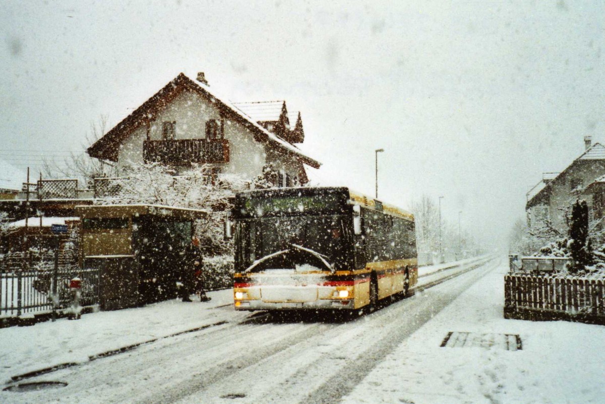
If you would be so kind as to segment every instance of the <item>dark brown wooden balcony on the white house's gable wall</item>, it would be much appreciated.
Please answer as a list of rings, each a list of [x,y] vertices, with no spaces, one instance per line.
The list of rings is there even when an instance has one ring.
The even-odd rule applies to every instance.
[[[166,165],[229,163],[229,141],[226,139],[145,140],[145,163],[157,161]]]

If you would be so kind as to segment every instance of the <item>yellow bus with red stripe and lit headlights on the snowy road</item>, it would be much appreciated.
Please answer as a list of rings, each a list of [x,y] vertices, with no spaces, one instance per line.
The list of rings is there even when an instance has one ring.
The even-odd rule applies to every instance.
[[[240,192],[236,310],[373,310],[417,283],[414,216],[347,187]]]

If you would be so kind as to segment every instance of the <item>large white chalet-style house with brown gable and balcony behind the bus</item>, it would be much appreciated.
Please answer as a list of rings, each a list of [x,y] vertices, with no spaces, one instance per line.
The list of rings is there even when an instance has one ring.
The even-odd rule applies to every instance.
[[[275,186],[307,183],[305,166],[321,163],[304,154],[301,115],[286,102],[231,103],[212,91],[203,73],[181,73],[118,123],[88,154],[123,168],[157,161],[177,172],[204,164],[209,174],[255,178],[272,166]]]

